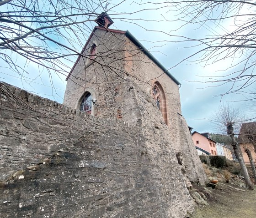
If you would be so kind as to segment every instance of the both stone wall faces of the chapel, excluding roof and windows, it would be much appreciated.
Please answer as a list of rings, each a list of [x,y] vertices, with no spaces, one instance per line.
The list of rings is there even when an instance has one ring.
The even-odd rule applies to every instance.
[[[169,153],[170,149],[175,153],[186,153],[185,162],[192,166],[188,170],[189,179],[205,183],[206,177],[192,144],[187,123],[185,120],[181,122],[179,86],[124,34],[96,29],[85,52],[92,43],[99,45],[96,60],[100,62],[104,59],[109,67],[102,67],[95,62],[88,65],[80,58],[67,82],[64,104],[78,108],[78,101],[85,90],[95,92],[98,104],[94,108],[96,117],[117,117],[142,127],[145,137],[148,137],[146,146],[150,152],[155,152],[153,156],[159,154],[157,158],[160,160],[162,152],[165,152],[163,147]],[[112,51],[115,51],[114,54]],[[114,70],[111,71],[110,67]],[[156,81],[165,92],[168,125],[152,97],[152,86]],[[160,136],[164,143],[160,142]]]

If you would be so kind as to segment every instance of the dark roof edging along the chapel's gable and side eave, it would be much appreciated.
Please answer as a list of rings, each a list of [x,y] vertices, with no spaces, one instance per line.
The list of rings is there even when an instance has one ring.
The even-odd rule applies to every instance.
[[[112,29],[106,29],[105,27],[101,27],[101,26],[95,26],[94,29],[92,30],[91,35],[89,36],[88,40],[86,41],[84,48],[80,52],[80,55],[78,56],[77,60],[75,61],[74,66],[72,67],[71,71],[69,72],[69,75],[67,76],[66,81],[68,81],[70,75],[72,74],[73,70],[75,69],[75,66],[77,65],[77,63],[81,57],[81,54],[85,51],[86,46],[88,45],[89,41],[91,40],[91,37],[94,35],[94,33],[97,29],[105,30],[105,31],[112,32],[112,33],[124,34],[125,36],[128,37],[129,40],[131,40],[134,43],[134,45],[136,45],[141,51],[143,51],[144,54],[149,57],[149,59],[151,59],[157,66],[159,66],[160,69],[162,71],[164,71],[165,74],[167,74],[167,76],[169,76],[177,85],[181,85],[181,83],[179,81],[177,81],[176,78],[174,76],[172,76],[171,73],[159,61],[157,61],[156,58],[128,30],[127,31],[112,30]]]

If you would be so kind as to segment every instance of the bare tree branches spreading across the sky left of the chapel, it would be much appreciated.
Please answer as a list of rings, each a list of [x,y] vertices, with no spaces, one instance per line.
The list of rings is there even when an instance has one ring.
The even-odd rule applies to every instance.
[[[37,72],[34,77],[40,77],[42,71],[48,72],[54,89],[53,74],[67,76],[78,56],[82,56],[85,62],[91,59],[89,52],[81,52],[81,48],[94,26],[101,25],[97,20],[101,12],[108,12],[112,16],[123,15],[123,12],[115,12],[115,8],[123,2],[0,0],[0,61],[5,63],[1,66],[2,70],[5,71],[7,67],[11,69],[11,74],[16,73],[26,80],[29,73],[26,66],[35,65]],[[129,14],[133,13],[139,11]],[[133,20],[130,22],[135,23]],[[120,52],[109,48],[104,54],[95,54],[99,58],[93,58],[93,62],[120,76],[118,73],[123,72],[122,69],[104,61],[107,58],[111,58],[112,63],[120,61],[117,57]],[[138,49],[138,52],[141,51]],[[74,78],[71,75],[69,79],[86,81],[84,76]]]

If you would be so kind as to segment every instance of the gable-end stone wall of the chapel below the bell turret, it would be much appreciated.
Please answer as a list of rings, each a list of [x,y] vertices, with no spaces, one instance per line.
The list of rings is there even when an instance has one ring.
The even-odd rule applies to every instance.
[[[124,71],[124,35],[96,29],[85,54],[93,43],[97,45],[95,61],[80,58],[67,81],[64,104],[79,108],[79,100],[85,91],[95,93],[96,117],[114,117],[140,124],[140,112],[134,99],[131,80]],[[124,116],[125,115],[125,116]]]

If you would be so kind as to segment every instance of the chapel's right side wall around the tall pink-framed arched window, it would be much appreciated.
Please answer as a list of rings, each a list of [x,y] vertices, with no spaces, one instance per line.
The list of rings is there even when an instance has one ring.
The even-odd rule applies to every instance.
[[[197,155],[187,122],[181,115],[179,86],[142,51],[138,53],[138,48],[128,38],[126,38],[126,51],[129,51],[132,60],[126,63],[125,68],[129,71],[130,77],[136,76],[138,81],[148,81],[144,84],[140,84],[138,81],[133,83],[133,91],[135,91],[142,116],[142,126],[145,128],[146,134],[147,132],[149,135],[152,132],[161,132],[167,146],[175,153],[182,153],[189,180],[194,183],[206,183],[207,177]],[[161,84],[165,92],[168,125],[165,124],[152,97],[152,88],[156,81]],[[148,143],[150,150],[156,149],[157,142],[154,143],[151,139]]]

